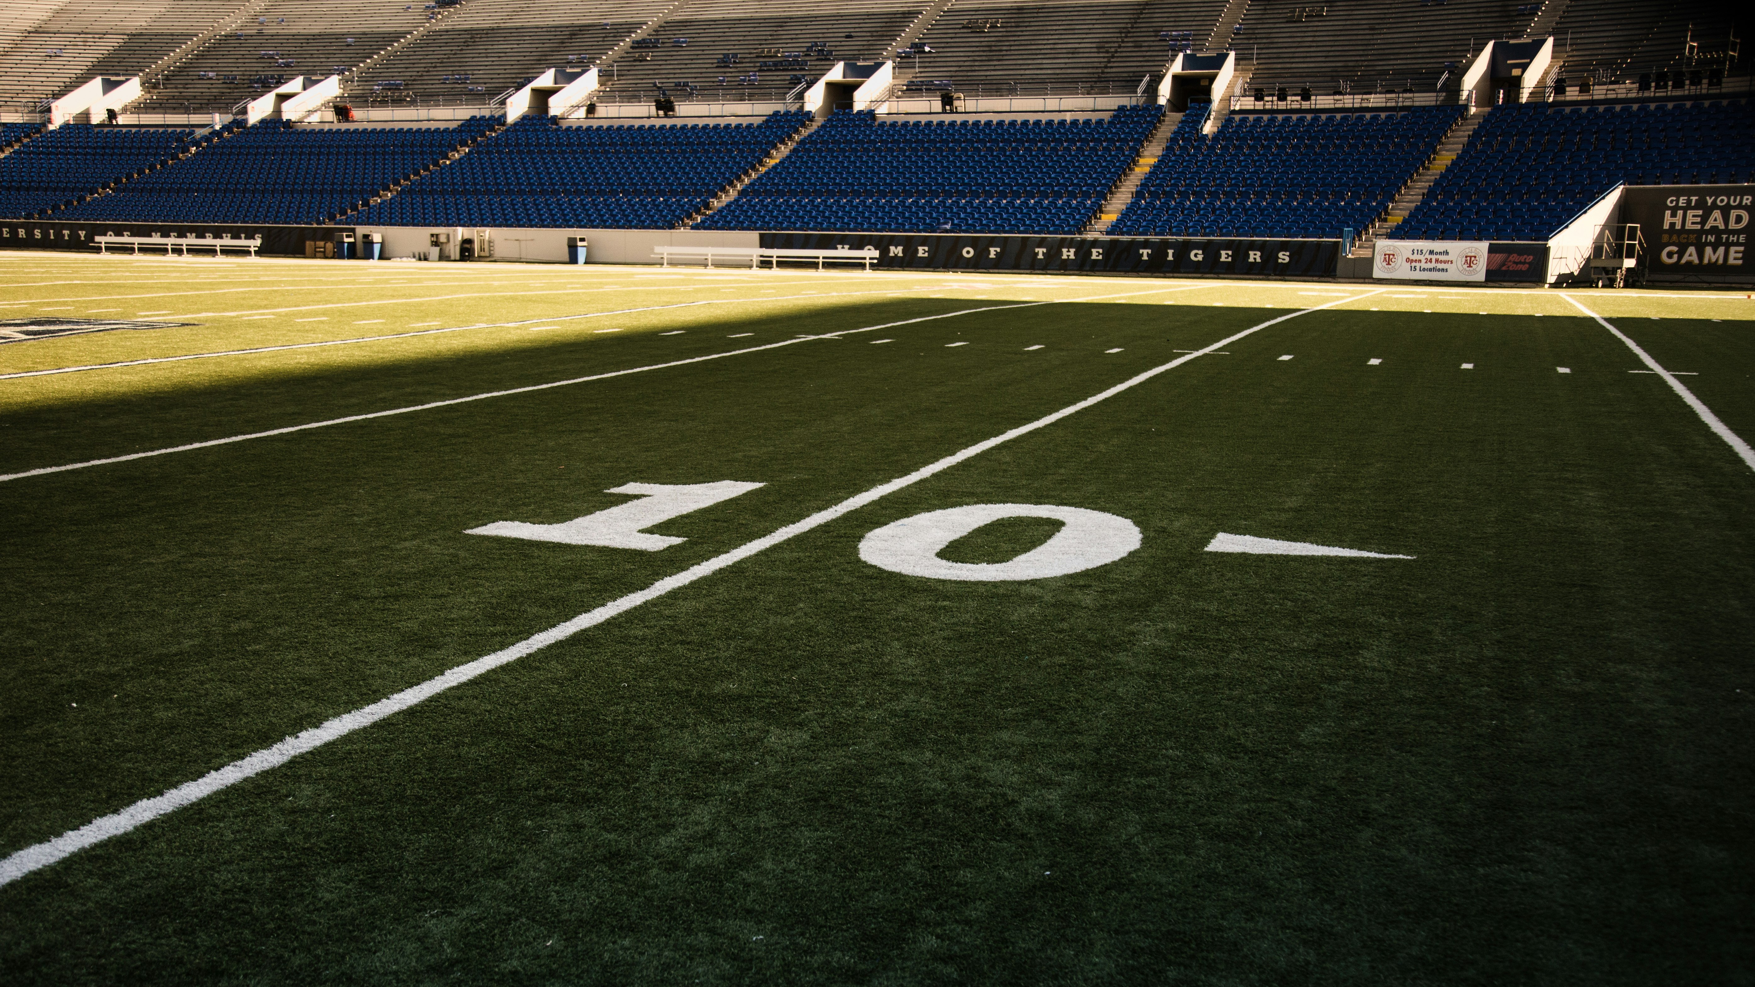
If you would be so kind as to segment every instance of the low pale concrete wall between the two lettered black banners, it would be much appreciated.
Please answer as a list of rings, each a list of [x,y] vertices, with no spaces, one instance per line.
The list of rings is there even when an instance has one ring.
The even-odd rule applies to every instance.
[[[356,226],[360,233],[384,235],[384,259],[412,258],[432,252],[432,233],[451,233],[451,249],[460,237],[476,237],[476,230],[453,226]],[[548,261],[565,263],[567,237],[584,237],[588,263],[649,265],[658,263],[653,247],[758,247],[760,233],[728,233],[709,230],[530,230],[491,228],[495,261]]]

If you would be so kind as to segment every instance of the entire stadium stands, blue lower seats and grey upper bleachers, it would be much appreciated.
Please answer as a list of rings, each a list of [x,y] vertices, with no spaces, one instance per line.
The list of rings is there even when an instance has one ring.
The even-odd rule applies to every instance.
[[[1465,114],[1467,95],[1457,91],[1465,58],[1488,39],[1532,28],[1555,37],[1555,63],[1532,95],[1565,102],[1501,105],[1451,130]],[[1046,103],[1041,119],[825,109],[795,147],[786,146],[813,123],[797,109],[690,126],[535,116],[511,128],[490,116],[500,109],[467,109],[504,100],[546,68],[600,65],[600,102],[649,102],[662,89],[748,112],[751,102],[797,105],[781,100],[800,82],[837,61],[876,58],[895,60],[899,89],[1127,102],[1143,79],[1155,91],[1153,74],[1178,51],[1225,47],[1248,79],[1241,100],[1221,93],[1216,105],[1192,105],[1162,154],[1158,130],[1146,161],[1158,158],[1143,179],[1128,168],[1144,170],[1139,154],[1165,112],[1157,105],[1090,119],[1058,119]],[[1334,238],[1351,228],[1362,244],[1376,235],[1539,240],[1616,182],[1750,181],[1755,117],[1746,70],[1725,75],[1734,49],[1723,11],[1644,0],[855,0],[834,9],[806,0],[590,9],[567,0],[19,0],[0,12],[0,103],[23,119],[0,130],[0,212],[1113,237]],[[347,86],[337,102],[418,105],[416,116],[444,103],[448,114],[421,126],[233,121],[200,146],[193,126],[132,124],[153,116],[40,130],[46,96],[93,74],[149,67],[147,96],[125,114],[193,124],[284,79],[332,74]],[[1553,88],[1565,75],[1571,89]],[[1585,77],[1620,89],[1590,103],[1578,93]],[[1439,105],[1299,112],[1306,86],[1318,96],[1393,89],[1397,102]],[[1632,98],[1632,86],[1646,89],[1643,103],[1615,102]],[[1715,98],[1718,88],[1732,98]],[[1290,100],[1279,95],[1286,89]],[[1402,100],[1404,89],[1416,100]],[[1701,98],[1708,89],[1715,95]],[[465,112],[477,116],[449,123]],[[1214,117],[1221,126],[1204,133]],[[770,156],[779,160],[763,172]]]

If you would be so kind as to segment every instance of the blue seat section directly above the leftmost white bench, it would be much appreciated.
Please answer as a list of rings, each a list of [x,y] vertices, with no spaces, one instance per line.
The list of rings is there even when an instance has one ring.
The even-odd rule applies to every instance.
[[[67,212],[140,223],[325,223],[498,124],[293,128],[263,121]]]

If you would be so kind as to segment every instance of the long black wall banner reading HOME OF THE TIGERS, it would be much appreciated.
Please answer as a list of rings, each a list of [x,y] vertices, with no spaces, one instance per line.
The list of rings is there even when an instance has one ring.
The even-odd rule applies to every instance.
[[[762,233],[783,251],[878,247],[878,266],[1334,277],[1339,240],[1158,240],[942,233]]]

